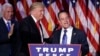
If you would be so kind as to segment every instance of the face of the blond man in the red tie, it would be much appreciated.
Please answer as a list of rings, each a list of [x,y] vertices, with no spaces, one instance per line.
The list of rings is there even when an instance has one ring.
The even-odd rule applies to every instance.
[[[37,8],[34,9],[34,17],[37,20],[41,20],[43,18],[43,14],[44,14],[44,8],[37,7]]]

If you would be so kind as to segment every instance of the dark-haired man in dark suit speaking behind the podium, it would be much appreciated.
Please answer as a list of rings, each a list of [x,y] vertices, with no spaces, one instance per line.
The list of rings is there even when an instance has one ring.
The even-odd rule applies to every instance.
[[[85,56],[89,52],[86,34],[71,26],[68,12],[60,11],[58,18],[61,29],[56,30],[51,36],[52,44],[81,44],[81,54]]]

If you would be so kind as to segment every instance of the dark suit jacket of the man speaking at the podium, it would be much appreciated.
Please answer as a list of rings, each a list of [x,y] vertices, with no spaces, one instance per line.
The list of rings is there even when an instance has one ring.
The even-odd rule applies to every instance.
[[[54,32],[54,34],[50,37],[52,44],[60,43],[60,34],[61,29]],[[71,44],[81,44],[82,56],[89,52],[89,46],[86,37],[87,36],[83,31],[73,28]]]

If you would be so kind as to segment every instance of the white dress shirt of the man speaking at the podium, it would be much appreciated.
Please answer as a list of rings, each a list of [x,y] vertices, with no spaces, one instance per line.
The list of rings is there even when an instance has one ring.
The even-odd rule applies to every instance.
[[[65,30],[64,28],[62,28],[62,30],[61,30],[60,44],[62,44],[62,38],[63,38],[63,35],[64,35],[64,30]],[[71,37],[72,37],[73,27],[70,26],[66,30],[67,30],[67,32],[66,32],[66,35],[67,35],[67,43],[66,44],[71,44]]]

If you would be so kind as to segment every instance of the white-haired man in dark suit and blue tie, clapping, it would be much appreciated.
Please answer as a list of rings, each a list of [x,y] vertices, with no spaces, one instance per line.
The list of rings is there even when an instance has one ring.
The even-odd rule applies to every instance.
[[[0,18],[0,56],[15,56],[18,25],[12,19],[13,7],[11,4],[5,3],[3,5],[2,15]]]

